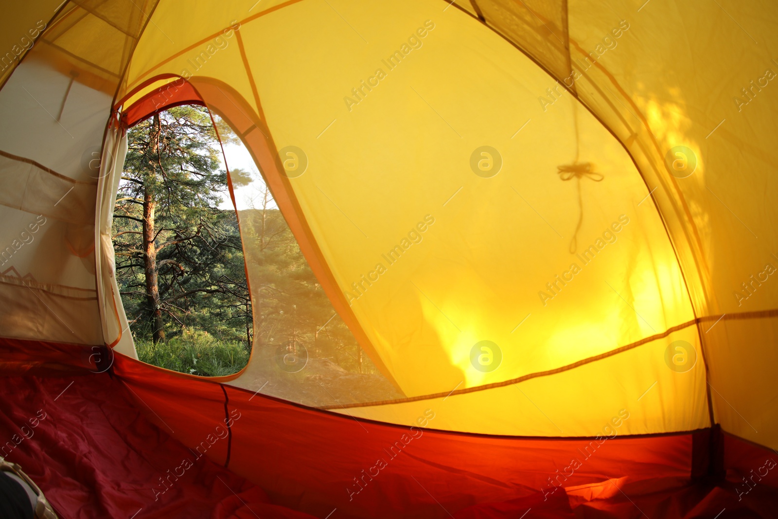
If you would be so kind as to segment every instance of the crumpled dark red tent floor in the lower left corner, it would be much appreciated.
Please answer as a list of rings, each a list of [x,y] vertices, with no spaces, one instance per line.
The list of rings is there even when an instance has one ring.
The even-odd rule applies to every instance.
[[[107,374],[0,377],[3,455],[38,483],[61,519],[310,519],[269,504],[258,486],[208,458],[167,479],[194,457],[127,393]]]

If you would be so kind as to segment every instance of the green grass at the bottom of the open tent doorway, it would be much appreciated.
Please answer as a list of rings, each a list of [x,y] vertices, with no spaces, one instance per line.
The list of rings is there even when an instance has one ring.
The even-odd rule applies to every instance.
[[[248,363],[249,352],[241,342],[223,342],[207,331],[184,330],[166,342],[135,338],[142,362],[201,377],[237,373]]]

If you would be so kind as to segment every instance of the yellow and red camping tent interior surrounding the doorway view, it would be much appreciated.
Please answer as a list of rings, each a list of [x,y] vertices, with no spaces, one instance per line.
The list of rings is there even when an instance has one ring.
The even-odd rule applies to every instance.
[[[771,2],[4,11],[2,433],[63,517],[227,517],[217,477],[268,517],[778,506]],[[181,103],[240,135],[391,398],[138,362],[125,132]]]

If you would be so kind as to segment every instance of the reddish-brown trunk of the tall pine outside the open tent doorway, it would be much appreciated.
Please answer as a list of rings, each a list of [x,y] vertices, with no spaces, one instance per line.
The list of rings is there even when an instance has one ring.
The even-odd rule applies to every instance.
[[[152,153],[159,153],[159,115],[154,116],[149,132],[149,146]],[[145,256],[145,282],[146,299],[152,311],[152,323],[154,332],[152,339],[155,344],[165,340],[165,328],[162,321],[162,307],[159,305],[159,280],[156,272],[156,244],[154,243],[154,197],[150,187],[145,184],[143,188],[143,253]]]

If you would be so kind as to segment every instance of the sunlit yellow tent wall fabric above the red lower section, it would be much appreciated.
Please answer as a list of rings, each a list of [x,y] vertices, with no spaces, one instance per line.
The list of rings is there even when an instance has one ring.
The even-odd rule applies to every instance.
[[[629,409],[625,433],[720,423],[778,447],[775,5],[55,8],[3,72],[0,210],[8,244],[44,213],[61,258],[33,241],[3,266],[3,336],[124,328],[91,238],[110,189],[83,153],[114,103],[183,77],[253,121],[241,136],[303,252],[405,395],[333,410],[411,423],[434,405],[437,428],[576,437]],[[26,9],[9,42],[45,10]],[[53,204],[67,183],[82,194],[56,209],[25,195]],[[256,362],[230,384],[258,389]]]

